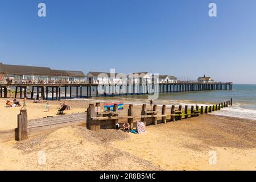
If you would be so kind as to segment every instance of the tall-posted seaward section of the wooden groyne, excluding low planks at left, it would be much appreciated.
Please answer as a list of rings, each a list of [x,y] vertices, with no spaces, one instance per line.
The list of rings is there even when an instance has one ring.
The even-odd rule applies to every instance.
[[[181,105],[175,108],[175,105],[172,105],[170,110],[167,111],[166,105],[162,105],[162,112],[158,113],[157,107],[158,105],[154,105],[152,110],[147,110],[146,105],[142,105],[141,115],[134,115],[133,105],[129,105],[127,115],[118,115],[118,106],[114,104],[114,110],[108,112],[98,112],[100,108],[98,108],[100,104],[90,104],[87,109],[87,121],[86,127],[89,130],[100,130],[100,129],[115,129],[115,124],[122,124],[124,122],[120,122],[122,119],[127,119],[127,122],[130,125],[130,129],[135,127],[135,119],[139,119],[144,122],[144,125],[158,125],[159,123],[173,122],[179,121],[181,119],[187,119],[190,117],[197,117],[201,114],[212,113],[217,110],[221,110],[224,107],[232,106],[233,101],[232,98],[229,101],[221,102],[220,104],[210,105],[210,106],[191,106],[191,109],[188,109],[188,106],[185,105],[184,109]],[[122,125],[120,125],[122,126]]]

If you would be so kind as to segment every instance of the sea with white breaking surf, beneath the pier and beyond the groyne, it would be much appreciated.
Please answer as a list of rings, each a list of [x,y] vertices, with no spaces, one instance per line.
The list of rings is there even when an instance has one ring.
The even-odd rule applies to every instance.
[[[69,89],[67,89],[69,90]],[[61,90],[61,96],[64,96]],[[96,95],[96,88],[92,89],[92,96]],[[108,97],[92,97],[92,98],[76,98],[76,88],[72,89],[72,100],[89,100],[98,102],[119,102],[123,101],[124,104],[150,104],[150,98],[146,94],[135,95],[121,95],[121,96],[108,96]],[[48,93],[48,98],[52,96]],[[55,93],[54,93],[55,96]],[[80,96],[80,89],[79,89]],[[86,89],[82,90],[82,96],[86,96]],[[69,98],[69,94],[67,94]],[[225,107],[221,110],[214,111],[212,114],[224,115],[229,117],[238,117],[256,120],[256,85],[234,84],[233,90],[204,90],[193,92],[178,92],[178,93],[160,93],[158,98],[153,100],[154,104],[159,106],[166,105],[213,105],[219,104],[224,101],[233,99],[233,106]]]

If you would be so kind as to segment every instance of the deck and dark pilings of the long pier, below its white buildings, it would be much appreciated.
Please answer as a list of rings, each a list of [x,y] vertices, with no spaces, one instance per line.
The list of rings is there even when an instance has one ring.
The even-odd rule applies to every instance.
[[[56,93],[56,100],[61,98],[72,98],[72,88],[76,88],[76,98],[90,98],[92,96],[117,96],[127,94],[154,94],[154,93],[178,93],[178,92],[195,92],[203,90],[232,90],[232,82],[177,82],[177,83],[159,83],[159,84],[1,84],[0,97],[7,98],[8,88],[15,88],[14,98],[27,96],[27,88],[31,87],[30,99],[39,99],[39,93],[43,100],[48,100],[48,93],[52,94],[51,100],[54,99],[53,94]],[[104,89],[104,93],[99,93],[98,88]],[[158,88],[157,88],[158,87]],[[64,96],[61,97],[61,88],[64,89]],[[69,88],[69,89],[68,89]],[[116,93],[115,90],[124,90],[124,92]],[[24,89],[24,91],[22,91]],[[82,90],[86,90],[86,94],[82,94]],[[94,95],[92,89],[95,90]],[[151,92],[152,91],[152,92]],[[34,98],[34,94],[36,97]],[[67,97],[69,93],[69,97]]]

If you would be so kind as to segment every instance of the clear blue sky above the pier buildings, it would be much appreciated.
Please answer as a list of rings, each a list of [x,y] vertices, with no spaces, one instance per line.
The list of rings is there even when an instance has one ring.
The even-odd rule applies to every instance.
[[[256,84],[255,0],[1,0],[0,25],[5,64]]]

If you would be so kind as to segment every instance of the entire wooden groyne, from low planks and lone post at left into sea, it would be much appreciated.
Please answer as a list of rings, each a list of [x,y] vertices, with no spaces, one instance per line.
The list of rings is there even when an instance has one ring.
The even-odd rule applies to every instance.
[[[137,119],[144,122],[145,126],[158,125],[159,123],[175,122],[181,119],[198,117],[201,114],[212,113],[232,105],[232,98],[229,101],[205,107],[192,105],[190,109],[188,109],[187,105],[185,105],[184,109],[181,105],[177,108],[175,108],[175,105],[172,105],[170,109],[167,109],[166,105],[162,105],[162,109],[159,113],[158,105],[154,105],[152,109],[147,110],[146,105],[143,104],[141,115],[135,115],[133,105],[130,104],[127,115],[119,115],[117,104],[114,105],[113,111],[101,112],[100,103],[96,103],[96,105],[90,104],[87,112],[84,113],[31,120],[27,119],[26,110],[20,110],[20,114],[18,115],[18,127],[13,130],[0,131],[0,140],[4,142],[8,140],[24,140],[43,131],[82,124],[86,124],[89,130],[97,131],[101,129],[115,129],[117,123],[122,127],[123,123],[128,122],[130,129],[134,129],[134,127],[137,127]]]

